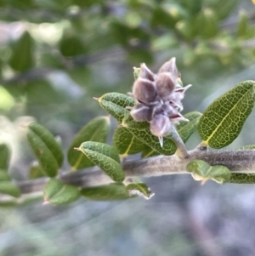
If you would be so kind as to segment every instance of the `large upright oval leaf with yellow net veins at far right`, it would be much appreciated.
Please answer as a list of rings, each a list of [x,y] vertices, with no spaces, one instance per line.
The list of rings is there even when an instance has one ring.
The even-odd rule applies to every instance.
[[[222,148],[240,134],[254,105],[254,85],[254,81],[241,82],[209,105],[198,125],[205,144]]]

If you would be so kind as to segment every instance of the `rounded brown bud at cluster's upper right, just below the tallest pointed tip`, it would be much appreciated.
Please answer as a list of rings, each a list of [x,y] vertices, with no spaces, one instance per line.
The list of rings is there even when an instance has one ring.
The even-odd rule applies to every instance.
[[[177,79],[169,72],[159,73],[156,77],[156,93],[161,100],[168,100],[176,87]]]

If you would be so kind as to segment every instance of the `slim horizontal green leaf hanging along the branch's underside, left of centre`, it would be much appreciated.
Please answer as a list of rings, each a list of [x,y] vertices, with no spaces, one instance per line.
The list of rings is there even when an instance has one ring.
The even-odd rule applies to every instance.
[[[82,189],[81,194],[87,199],[94,201],[124,200],[137,196],[130,195],[128,193],[127,187],[122,183],[113,183],[110,185],[100,185],[84,188]]]

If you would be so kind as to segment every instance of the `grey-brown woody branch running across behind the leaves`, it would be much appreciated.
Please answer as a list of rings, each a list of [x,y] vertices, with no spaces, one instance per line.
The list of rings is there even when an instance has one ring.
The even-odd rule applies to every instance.
[[[133,177],[154,177],[169,174],[190,174],[186,171],[188,162],[201,159],[210,165],[224,165],[233,173],[255,173],[255,150],[237,151],[207,151],[205,147],[198,147],[189,151],[186,158],[173,156],[154,156],[141,160],[122,162],[126,179]],[[112,182],[111,178],[99,168],[85,169],[76,173],[61,174],[61,179],[66,184],[88,187],[104,185]],[[17,182],[23,194],[42,191],[48,178]]]

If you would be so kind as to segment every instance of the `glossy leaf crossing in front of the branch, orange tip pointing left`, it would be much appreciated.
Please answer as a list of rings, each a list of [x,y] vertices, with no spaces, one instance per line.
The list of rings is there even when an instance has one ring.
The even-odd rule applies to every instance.
[[[122,182],[125,179],[125,173],[120,164],[120,157],[116,148],[100,142],[83,142],[79,150],[98,165],[105,174],[116,182]]]

